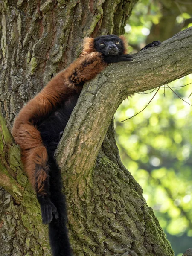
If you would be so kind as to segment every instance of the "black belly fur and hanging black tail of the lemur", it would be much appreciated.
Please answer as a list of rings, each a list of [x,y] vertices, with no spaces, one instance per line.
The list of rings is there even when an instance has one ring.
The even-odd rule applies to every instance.
[[[49,223],[49,241],[54,256],[71,256],[70,242],[66,227],[67,210],[65,196],[62,192],[62,177],[54,153],[78,97],[78,94],[70,96],[68,100],[61,104],[60,108],[38,125],[38,130],[41,133],[43,143],[47,148],[49,156],[49,197],[50,201],[54,202],[54,206],[58,212],[58,218],[55,218],[55,215],[53,215],[51,221],[49,218],[43,220],[45,223]],[[42,214],[42,217],[47,217],[47,215]]]

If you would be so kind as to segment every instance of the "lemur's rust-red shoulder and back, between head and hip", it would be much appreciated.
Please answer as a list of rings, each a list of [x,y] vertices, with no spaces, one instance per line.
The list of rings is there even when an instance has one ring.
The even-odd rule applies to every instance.
[[[17,116],[13,134],[17,137],[16,130],[24,123],[35,124],[51,113],[73,91],[81,91],[82,85],[100,73],[107,64],[103,61],[102,54],[91,52],[79,57],[66,70],[58,73],[47,86],[30,100]],[[78,86],[79,85],[79,86]],[[22,138],[23,140],[23,138]],[[20,141],[16,139],[20,144]]]

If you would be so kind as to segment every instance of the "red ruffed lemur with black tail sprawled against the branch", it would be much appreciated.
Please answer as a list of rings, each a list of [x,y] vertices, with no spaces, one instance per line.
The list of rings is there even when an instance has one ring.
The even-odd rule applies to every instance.
[[[154,41],[145,48],[160,44]],[[15,142],[20,145],[26,173],[41,206],[43,224],[49,224],[53,256],[71,256],[67,234],[65,198],[62,178],[54,158],[62,132],[86,81],[100,73],[109,63],[132,61],[126,54],[123,36],[103,35],[84,39],[79,58],[58,73],[20,111],[13,126]]]

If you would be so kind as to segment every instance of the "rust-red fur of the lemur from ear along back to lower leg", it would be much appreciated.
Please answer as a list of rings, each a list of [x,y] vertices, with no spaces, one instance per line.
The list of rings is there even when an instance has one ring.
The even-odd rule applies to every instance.
[[[78,84],[92,79],[105,67],[101,53],[95,52],[94,39],[85,39],[80,57],[58,73],[15,119],[12,133],[20,145],[25,170],[37,193],[46,194],[44,183],[48,176],[48,155],[36,122],[48,116],[71,94],[80,93],[82,86]]]

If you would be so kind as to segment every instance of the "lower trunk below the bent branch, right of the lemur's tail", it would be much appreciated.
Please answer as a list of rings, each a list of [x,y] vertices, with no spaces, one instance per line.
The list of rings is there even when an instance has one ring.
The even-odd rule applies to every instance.
[[[120,160],[113,122],[92,171],[71,171],[69,162],[64,177],[75,255],[111,255],[123,247],[138,256],[174,255],[142,188]]]

